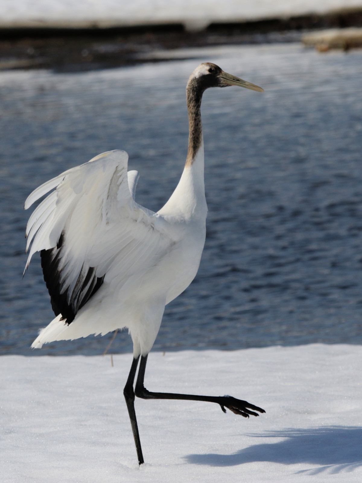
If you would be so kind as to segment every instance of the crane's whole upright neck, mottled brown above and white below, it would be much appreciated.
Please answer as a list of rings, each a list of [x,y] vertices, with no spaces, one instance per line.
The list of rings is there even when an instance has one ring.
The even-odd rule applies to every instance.
[[[189,147],[179,184],[166,205],[158,212],[175,220],[206,220],[207,205],[204,185],[204,143],[201,124],[201,99],[204,89],[197,78],[186,87],[189,114]]]

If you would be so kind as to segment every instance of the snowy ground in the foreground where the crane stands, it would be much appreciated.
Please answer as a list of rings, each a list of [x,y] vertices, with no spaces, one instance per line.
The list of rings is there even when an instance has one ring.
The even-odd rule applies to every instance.
[[[0,358],[1,481],[360,482],[362,346],[151,353],[150,390],[232,394],[211,403],[136,400],[138,467],[123,386],[132,355]]]

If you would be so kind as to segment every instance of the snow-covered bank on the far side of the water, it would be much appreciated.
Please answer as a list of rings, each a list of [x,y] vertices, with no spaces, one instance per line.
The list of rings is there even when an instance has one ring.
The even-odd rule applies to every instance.
[[[1,0],[0,27],[110,27],[283,18],[362,7],[362,0]]]

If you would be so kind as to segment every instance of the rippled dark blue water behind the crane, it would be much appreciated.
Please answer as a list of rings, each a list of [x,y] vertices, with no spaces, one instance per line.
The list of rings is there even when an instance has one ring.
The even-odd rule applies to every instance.
[[[125,149],[137,200],[167,200],[186,155],[184,87],[212,60],[265,93],[203,100],[208,233],[195,281],[171,302],[157,350],[362,343],[362,51],[296,44],[200,50],[110,71],[0,73],[2,354],[99,354],[111,335],[28,347],[53,318],[23,211],[36,186]],[[132,348],[117,335],[111,352]]]

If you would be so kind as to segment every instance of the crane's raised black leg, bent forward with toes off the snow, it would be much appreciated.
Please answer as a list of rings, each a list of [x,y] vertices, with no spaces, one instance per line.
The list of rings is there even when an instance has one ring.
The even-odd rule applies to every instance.
[[[264,409],[258,408],[258,406],[254,406],[247,401],[241,401],[240,399],[233,398],[232,396],[194,396],[193,394],[174,394],[174,393],[156,393],[148,391],[144,385],[144,373],[146,370],[146,363],[147,363],[147,355],[141,356],[141,361],[139,363],[139,371],[138,377],[136,382],[135,388],[135,395],[138,398],[142,399],[185,399],[189,401],[208,401],[208,402],[216,402],[220,404],[221,409],[223,412],[226,412],[226,409],[234,412],[235,414],[240,414],[245,418],[249,417],[249,414],[253,416],[259,416],[257,412],[265,412]],[[250,411],[250,410],[254,411]]]

